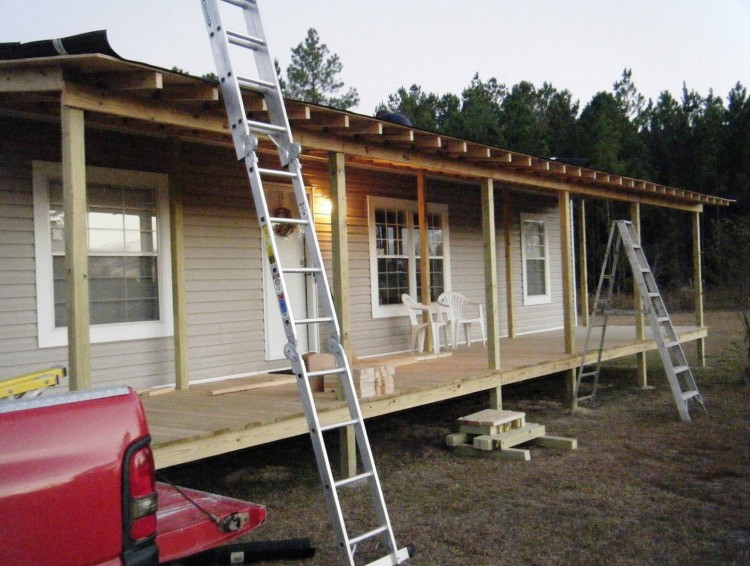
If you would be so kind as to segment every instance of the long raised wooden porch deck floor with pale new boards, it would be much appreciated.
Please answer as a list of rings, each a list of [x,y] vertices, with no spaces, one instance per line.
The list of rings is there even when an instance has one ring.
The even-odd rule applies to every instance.
[[[704,338],[705,327],[675,327],[681,342]],[[647,329],[648,336],[649,329]],[[583,347],[586,328],[576,328],[576,345]],[[609,326],[602,358],[612,360],[654,350],[651,340],[636,341],[634,326]],[[502,369],[487,369],[487,351],[481,345],[459,347],[450,356],[426,359],[396,367],[395,393],[361,401],[362,413],[374,417],[489,390],[578,366],[580,354],[564,352],[562,330],[542,332],[500,342]],[[408,355],[402,357],[408,358]],[[393,360],[397,357],[389,357]],[[380,363],[385,364],[385,360]],[[378,358],[362,364],[379,365]],[[152,435],[158,468],[216,456],[307,432],[302,404],[293,376],[288,384],[223,395],[209,395],[217,383],[192,386],[185,391],[144,395],[143,404]],[[239,385],[247,380],[222,385]],[[323,424],[347,416],[335,393],[315,396]],[[561,400],[564,402],[564,400]]]

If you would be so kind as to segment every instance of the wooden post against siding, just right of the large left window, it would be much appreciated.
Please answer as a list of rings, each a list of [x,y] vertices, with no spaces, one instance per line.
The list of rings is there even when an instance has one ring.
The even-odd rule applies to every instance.
[[[190,387],[187,351],[185,290],[185,222],[183,208],[182,143],[170,139],[169,147],[169,238],[172,254],[172,311],[174,312],[175,388]]]

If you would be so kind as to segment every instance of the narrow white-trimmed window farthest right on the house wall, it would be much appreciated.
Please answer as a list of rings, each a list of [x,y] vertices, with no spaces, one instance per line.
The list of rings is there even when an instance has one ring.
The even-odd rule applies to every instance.
[[[539,305],[552,300],[549,288],[548,250],[544,217],[536,214],[521,214],[524,305]]]

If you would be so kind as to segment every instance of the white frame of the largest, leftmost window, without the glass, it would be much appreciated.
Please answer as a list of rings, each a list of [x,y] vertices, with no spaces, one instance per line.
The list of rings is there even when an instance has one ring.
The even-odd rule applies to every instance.
[[[40,348],[66,346],[67,327],[55,326],[55,298],[52,271],[52,242],[49,224],[49,185],[62,180],[62,165],[47,161],[32,163],[34,188],[34,243],[36,255],[36,294],[38,342]],[[172,336],[172,268],[169,237],[169,179],[160,173],[146,173],[125,169],[87,167],[86,181],[90,184],[112,184],[156,191],[159,255],[159,314],[154,321],[92,324],[91,343],[142,340]]]

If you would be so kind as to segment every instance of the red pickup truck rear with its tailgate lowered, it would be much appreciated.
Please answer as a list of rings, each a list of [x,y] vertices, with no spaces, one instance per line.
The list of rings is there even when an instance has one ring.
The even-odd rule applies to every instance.
[[[128,387],[0,401],[0,564],[151,566],[263,523],[261,505],[156,482],[150,443]]]

